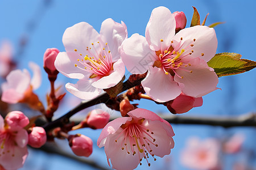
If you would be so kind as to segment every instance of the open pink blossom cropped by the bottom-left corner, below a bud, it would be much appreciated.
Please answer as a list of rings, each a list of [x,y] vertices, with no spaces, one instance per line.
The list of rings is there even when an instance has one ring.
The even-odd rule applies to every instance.
[[[10,112],[6,117],[16,117],[16,112],[18,111]],[[13,116],[12,114],[15,115]],[[9,126],[9,124],[4,122],[2,116],[0,116],[0,167],[2,166],[6,170],[21,168],[28,154],[28,134],[23,129],[28,122],[27,124],[24,124],[24,122],[20,124],[19,119],[16,121],[16,123],[11,124],[12,126]]]

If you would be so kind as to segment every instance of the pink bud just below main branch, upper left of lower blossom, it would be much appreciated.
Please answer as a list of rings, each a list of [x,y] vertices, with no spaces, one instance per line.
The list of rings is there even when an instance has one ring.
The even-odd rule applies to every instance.
[[[108,124],[110,114],[101,109],[94,109],[90,112],[86,124],[93,129],[102,129]]]

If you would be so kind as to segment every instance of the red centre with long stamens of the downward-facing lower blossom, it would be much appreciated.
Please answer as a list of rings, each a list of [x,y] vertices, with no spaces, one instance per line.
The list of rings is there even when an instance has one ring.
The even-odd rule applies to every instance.
[[[140,162],[142,158],[146,159],[148,166],[150,166],[150,163],[148,163],[149,155],[154,158],[155,155],[152,154],[154,153],[153,150],[155,147],[158,147],[158,144],[155,144],[156,139],[154,138],[154,132],[139,123],[131,123],[122,127],[124,129],[117,139],[115,139],[115,143],[121,142],[122,151],[126,151],[127,154],[132,154],[132,156],[138,155]],[[121,135],[124,138],[119,141],[118,138]],[[156,158],[154,158],[154,160],[156,160]],[[140,165],[142,165],[142,163],[140,163]]]

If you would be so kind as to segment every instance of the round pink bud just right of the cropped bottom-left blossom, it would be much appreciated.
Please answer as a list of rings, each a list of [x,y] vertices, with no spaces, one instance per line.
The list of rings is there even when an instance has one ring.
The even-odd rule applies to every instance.
[[[42,127],[34,127],[28,134],[28,145],[39,148],[46,143],[46,131]]]

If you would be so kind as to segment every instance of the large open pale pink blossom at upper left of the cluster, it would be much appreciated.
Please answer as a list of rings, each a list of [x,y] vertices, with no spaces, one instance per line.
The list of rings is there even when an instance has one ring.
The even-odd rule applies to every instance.
[[[71,94],[84,100],[98,96],[102,89],[118,84],[125,74],[120,46],[127,37],[125,23],[106,19],[100,34],[88,23],[81,22],[66,29],[63,44],[66,52],[58,54],[56,69],[76,84],[67,83]]]

